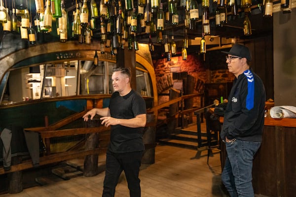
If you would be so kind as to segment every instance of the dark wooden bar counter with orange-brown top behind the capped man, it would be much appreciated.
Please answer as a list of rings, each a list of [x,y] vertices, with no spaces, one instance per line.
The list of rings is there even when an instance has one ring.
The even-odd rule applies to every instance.
[[[253,161],[255,194],[296,197],[295,145],[296,118],[265,118],[262,143]],[[226,156],[224,143],[221,155],[223,167]]]

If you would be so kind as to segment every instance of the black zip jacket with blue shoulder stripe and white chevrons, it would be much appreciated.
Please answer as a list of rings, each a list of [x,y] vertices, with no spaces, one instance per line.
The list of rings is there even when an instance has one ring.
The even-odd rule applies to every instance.
[[[264,85],[251,69],[235,78],[225,109],[221,138],[261,141],[265,97]]]

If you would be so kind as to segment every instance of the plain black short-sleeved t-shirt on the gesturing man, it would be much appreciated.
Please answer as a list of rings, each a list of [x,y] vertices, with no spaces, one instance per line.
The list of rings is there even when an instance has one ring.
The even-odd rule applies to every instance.
[[[139,114],[146,114],[146,103],[142,96],[134,90],[123,97],[118,92],[114,92],[110,99],[109,109],[113,118],[132,119]],[[109,151],[113,153],[143,151],[145,149],[142,140],[143,130],[143,127],[130,128],[112,125]]]

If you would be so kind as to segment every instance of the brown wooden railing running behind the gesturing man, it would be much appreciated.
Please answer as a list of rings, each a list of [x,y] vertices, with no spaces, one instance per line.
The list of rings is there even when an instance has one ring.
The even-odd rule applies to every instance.
[[[195,97],[201,97],[201,94],[192,94],[192,95],[185,95],[176,99],[169,100],[165,103],[162,103],[158,106],[155,106],[151,109],[148,109],[148,113],[150,114],[158,114],[158,110],[167,107],[171,104],[177,103],[177,102],[184,102],[185,99],[192,99]],[[191,109],[186,109],[186,110],[179,110],[176,114],[172,115],[171,117],[167,117],[164,122],[168,122],[174,118],[179,117],[180,115],[183,116],[184,114],[187,113],[192,113],[196,111],[197,109],[200,109],[199,107],[194,107]],[[69,116],[55,124],[52,124],[50,126],[45,126],[45,127],[34,127],[34,128],[25,128],[25,131],[33,131],[33,132],[38,132],[41,135],[41,138],[45,142],[45,148],[46,148],[46,154],[41,156],[39,159],[39,165],[45,165],[45,164],[54,164],[78,157],[84,157],[87,155],[93,155],[93,154],[99,154],[104,151],[106,151],[106,148],[95,148],[92,150],[71,150],[71,151],[65,151],[61,153],[52,153],[50,150],[50,138],[53,137],[63,137],[63,136],[71,136],[71,135],[77,135],[77,134],[87,134],[87,133],[102,133],[105,131],[109,131],[110,127],[93,127],[93,128],[74,128],[74,129],[60,129],[63,126],[70,124],[74,122],[75,120],[81,118],[84,114],[86,113],[85,111],[81,111],[78,113],[75,113],[72,116]],[[46,122],[46,121],[45,121]],[[154,119],[154,122],[147,122],[146,127],[157,127],[157,118]],[[155,146],[155,145],[154,145]],[[147,148],[151,148],[151,144],[147,145]],[[5,173],[10,173],[10,172],[15,172],[15,171],[20,171],[24,169],[29,169],[34,167],[32,164],[32,160],[25,160],[22,161],[20,164],[14,164],[11,165],[10,170],[4,170],[3,167],[0,167],[0,174],[5,174]]]

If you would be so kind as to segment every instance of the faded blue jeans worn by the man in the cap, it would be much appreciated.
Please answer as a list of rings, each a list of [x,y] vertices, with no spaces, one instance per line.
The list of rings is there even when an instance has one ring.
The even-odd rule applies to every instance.
[[[261,142],[236,140],[226,142],[227,157],[222,182],[230,197],[254,197],[252,185],[253,157]]]

